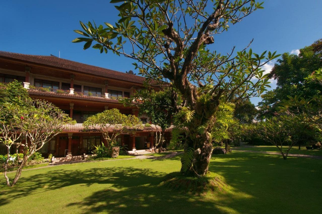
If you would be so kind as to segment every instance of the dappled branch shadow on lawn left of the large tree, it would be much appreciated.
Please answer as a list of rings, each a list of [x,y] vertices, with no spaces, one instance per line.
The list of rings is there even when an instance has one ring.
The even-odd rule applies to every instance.
[[[135,167],[107,167],[86,170],[52,170],[48,176],[35,174],[21,178],[19,188],[11,188],[0,206],[19,197],[39,194],[48,190],[57,190],[71,185],[108,184],[90,196],[67,205],[77,212],[93,213],[204,213],[220,212],[221,203],[184,194],[160,186],[166,173]],[[18,186],[17,186],[18,187]],[[89,189],[90,190],[90,189]],[[62,200],[63,200],[62,193]]]

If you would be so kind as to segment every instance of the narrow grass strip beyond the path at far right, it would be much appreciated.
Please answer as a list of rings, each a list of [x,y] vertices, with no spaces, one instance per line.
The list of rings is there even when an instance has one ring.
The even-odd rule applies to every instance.
[[[244,146],[244,147],[232,147],[233,150],[248,150],[248,151],[264,151],[264,152],[279,152],[276,146]],[[283,151],[287,150],[287,147],[283,147]],[[315,155],[322,156],[322,149],[308,150],[306,147],[292,147],[289,150],[289,154],[301,154],[301,155]]]

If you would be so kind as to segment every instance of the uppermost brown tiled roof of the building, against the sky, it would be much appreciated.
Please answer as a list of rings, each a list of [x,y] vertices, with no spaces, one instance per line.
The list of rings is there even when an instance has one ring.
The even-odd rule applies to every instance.
[[[108,77],[118,80],[125,80],[128,82],[142,84],[145,80],[142,76],[127,74],[119,71],[113,71],[110,69],[83,64],[80,62],[71,61],[68,59],[58,58],[54,56],[40,56],[40,55],[28,55],[20,53],[11,53],[6,51],[0,51],[0,57],[20,60],[24,62],[32,62],[46,66],[52,66],[96,76]]]

